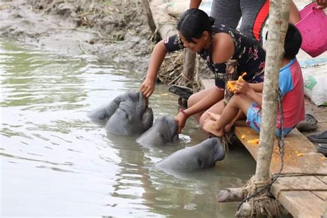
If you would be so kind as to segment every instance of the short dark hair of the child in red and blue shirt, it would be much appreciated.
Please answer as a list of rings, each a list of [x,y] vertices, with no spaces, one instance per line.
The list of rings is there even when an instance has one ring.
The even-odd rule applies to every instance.
[[[299,52],[301,47],[302,37],[301,33],[292,23],[288,23],[288,30],[286,32],[284,50],[284,57],[286,59],[293,59]]]

